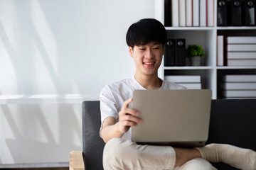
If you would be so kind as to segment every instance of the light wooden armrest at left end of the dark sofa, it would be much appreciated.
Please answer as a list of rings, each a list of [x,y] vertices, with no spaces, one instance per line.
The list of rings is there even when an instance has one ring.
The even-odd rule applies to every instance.
[[[82,151],[70,152],[70,170],[85,170]]]

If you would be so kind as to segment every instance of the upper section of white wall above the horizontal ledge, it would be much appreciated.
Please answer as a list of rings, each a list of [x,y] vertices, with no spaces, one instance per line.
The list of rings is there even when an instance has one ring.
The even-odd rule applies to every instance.
[[[0,1],[1,94],[86,94],[132,77],[125,34],[153,1]]]

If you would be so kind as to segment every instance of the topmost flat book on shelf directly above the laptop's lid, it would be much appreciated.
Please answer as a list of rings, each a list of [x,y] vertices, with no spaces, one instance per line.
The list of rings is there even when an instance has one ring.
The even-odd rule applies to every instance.
[[[171,75],[165,76],[164,79],[167,81],[175,82],[175,83],[201,83],[200,75]]]

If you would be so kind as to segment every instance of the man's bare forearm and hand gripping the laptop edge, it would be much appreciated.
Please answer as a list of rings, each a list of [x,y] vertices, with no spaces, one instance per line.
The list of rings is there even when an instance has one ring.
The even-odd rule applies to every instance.
[[[138,116],[139,112],[128,108],[129,103],[132,102],[132,98],[127,101],[124,101],[124,105],[119,111],[119,122],[114,117],[107,117],[102,123],[101,136],[105,143],[111,140],[114,137],[122,137],[125,132],[129,130],[131,126],[141,123],[142,120],[134,117]]]

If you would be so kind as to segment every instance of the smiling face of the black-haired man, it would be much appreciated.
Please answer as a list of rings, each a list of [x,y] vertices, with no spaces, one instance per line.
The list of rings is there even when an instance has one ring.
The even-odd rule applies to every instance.
[[[163,45],[159,42],[150,42],[146,45],[129,47],[129,55],[134,59],[136,74],[157,75],[164,55]]]

